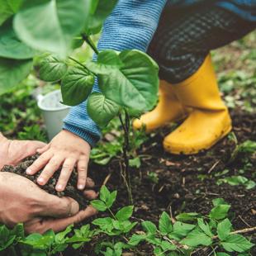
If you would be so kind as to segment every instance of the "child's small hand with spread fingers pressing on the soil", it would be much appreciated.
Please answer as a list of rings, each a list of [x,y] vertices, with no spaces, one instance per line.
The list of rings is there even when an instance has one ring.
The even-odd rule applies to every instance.
[[[26,173],[34,175],[44,168],[37,183],[45,185],[62,166],[55,188],[57,191],[64,191],[74,166],[77,166],[78,189],[83,190],[88,173],[90,151],[91,147],[85,140],[68,130],[62,130],[51,140],[49,145],[37,150],[41,155],[34,164],[26,169]]]

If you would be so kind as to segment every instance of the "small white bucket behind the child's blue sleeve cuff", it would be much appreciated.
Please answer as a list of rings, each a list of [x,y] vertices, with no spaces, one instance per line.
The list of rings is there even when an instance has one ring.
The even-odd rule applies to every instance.
[[[42,111],[47,134],[51,140],[62,130],[63,120],[69,113],[69,106],[61,104],[62,101],[60,90],[47,93],[45,96],[37,97],[37,104]]]

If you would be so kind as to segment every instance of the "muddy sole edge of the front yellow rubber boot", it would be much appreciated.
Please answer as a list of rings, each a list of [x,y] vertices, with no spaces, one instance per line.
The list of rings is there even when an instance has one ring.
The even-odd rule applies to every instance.
[[[225,128],[224,132],[220,135],[220,137],[217,140],[214,140],[210,145],[207,145],[203,149],[183,149],[183,150],[177,149],[177,148],[175,149],[175,147],[169,145],[168,143],[163,142],[164,150],[170,154],[185,154],[185,155],[198,154],[203,150],[211,149],[213,145],[216,145],[218,141],[222,140],[226,135],[228,135],[231,130],[232,130],[232,126]]]

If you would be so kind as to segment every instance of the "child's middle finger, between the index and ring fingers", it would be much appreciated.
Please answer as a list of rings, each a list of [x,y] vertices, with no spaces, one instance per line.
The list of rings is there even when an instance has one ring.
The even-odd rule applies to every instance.
[[[40,173],[39,178],[37,178],[37,183],[44,186],[48,183],[49,179],[53,177],[55,172],[59,169],[60,165],[64,162],[64,158],[60,156],[54,156],[50,159],[49,163],[46,164],[42,173]]]

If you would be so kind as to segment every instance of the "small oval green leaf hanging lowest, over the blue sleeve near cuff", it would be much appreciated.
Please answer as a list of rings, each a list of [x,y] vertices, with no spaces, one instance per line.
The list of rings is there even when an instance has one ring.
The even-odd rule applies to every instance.
[[[92,92],[88,97],[88,114],[97,126],[104,127],[118,114],[120,107],[101,92]]]

